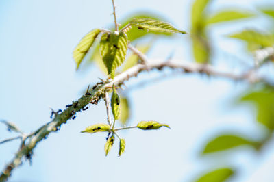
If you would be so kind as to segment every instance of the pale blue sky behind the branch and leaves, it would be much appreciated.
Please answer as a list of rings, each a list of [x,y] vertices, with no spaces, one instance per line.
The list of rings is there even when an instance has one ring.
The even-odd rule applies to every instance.
[[[119,21],[133,12],[160,14],[179,29],[190,31],[192,1],[116,0]],[[213,1],[209,11],[238,7],[256,10],[271,1]],[[91,29],[113,24],[112,3],[84,0],[1,0],[0,1],[0,118],[12,121],[26,133],[49,122],[51,110],[81,96],[88,84],[104,77],[96,66],[76,73],[72,51]],[[216,66],[237,70],[232,65],[250,64],[251,55],[236,40],[224,35],[246,27],[270,27],[267,18],[253,18],[210,28]],[[188,35],[161,38],[149,53],[151,59],[174,58],[193,61]],[[241,61],[240,61],[241,60]],[[239,63],[240,62],[240,63]],[[147,79],[165,77],[144,87],[125,90],[130,97],[129,125],[157,120],[171,126],[158,131],[132,129],[125,138],[125,154],[117,157],[119,142],[105,157],[105,134],[79,133],[97,122],[106,122],[105,103],[77,114],[57,133],[51,133],[34,150],[32,166],[14,170],[10,181],[191,181],[205,170],[229,165],[238,169],[233,181],[271,181],[274,142],[260,155],[240,148],[227,157],[200,157],[204,144],[218,133],[235,131],[260,137],[253,107],[234,106],[245,83],[208,79],[164,70],[142,73],[126,83],[128,88]],[[0,125],[0,140],[13,136]],[[19,141],[0,145],[1,169],[13,157]]]

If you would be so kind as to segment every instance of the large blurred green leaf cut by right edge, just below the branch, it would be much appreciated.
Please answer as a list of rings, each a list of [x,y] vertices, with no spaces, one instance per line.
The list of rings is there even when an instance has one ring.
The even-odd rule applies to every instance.
[[[266,128],[274,129],[274,89],[269,87],[260,88],[247,92],[240,102],[249,101],[256,106],[257,121]]]

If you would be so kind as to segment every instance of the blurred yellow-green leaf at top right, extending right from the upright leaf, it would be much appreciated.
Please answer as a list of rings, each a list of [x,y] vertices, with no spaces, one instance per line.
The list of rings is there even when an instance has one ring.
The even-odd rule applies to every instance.
[[[223,23],[225,21],[234,21],[242,18],[254,16],[251,12],[243,10],[222,10],[217,12],[206,20],[206,24]]]

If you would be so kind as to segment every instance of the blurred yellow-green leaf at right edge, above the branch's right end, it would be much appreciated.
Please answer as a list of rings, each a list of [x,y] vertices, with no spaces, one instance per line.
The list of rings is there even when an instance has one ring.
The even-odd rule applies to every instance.
[[[249,51],[271,47],[274,44],[274,36],[271,34],[260,33],[256,30],[244,30],[229,35],[231,38],[238,38],[247,42]]]

